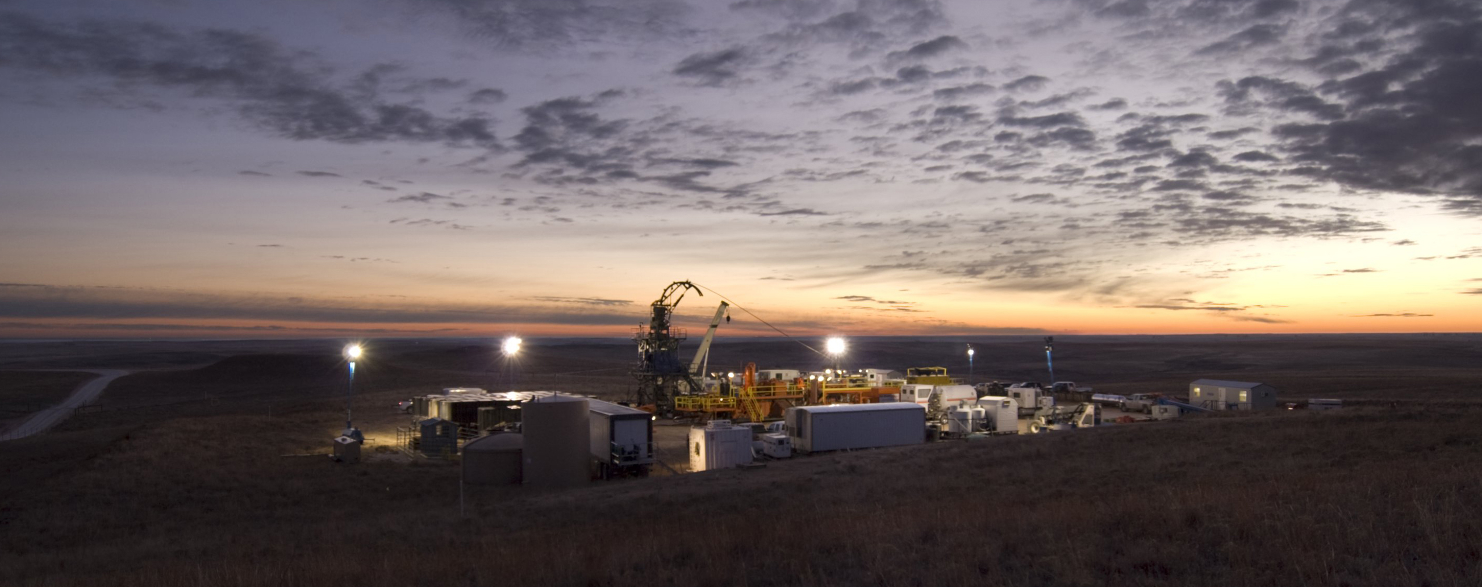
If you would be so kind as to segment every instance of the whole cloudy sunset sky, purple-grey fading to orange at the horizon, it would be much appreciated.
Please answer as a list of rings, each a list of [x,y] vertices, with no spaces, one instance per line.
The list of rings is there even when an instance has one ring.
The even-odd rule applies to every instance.
[[[0,0],[0,338],[1476,332],[1479,96],[1464,0]]]

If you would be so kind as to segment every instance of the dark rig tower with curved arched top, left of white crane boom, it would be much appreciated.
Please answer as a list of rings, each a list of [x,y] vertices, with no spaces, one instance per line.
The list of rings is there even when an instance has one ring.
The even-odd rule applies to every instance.
[[[639,362],[633,368],[633,377],[639,379],[634,402],[662,415],[674,414],[674,396],[701,390],[689,366],[679,359],[685,331],[670,325],[674,307],[689,291],[705,295],[689,282],[674,282],[664,288],[664,294],[649,304],[649,323],[639,325],[633,335],[639,344]]]

